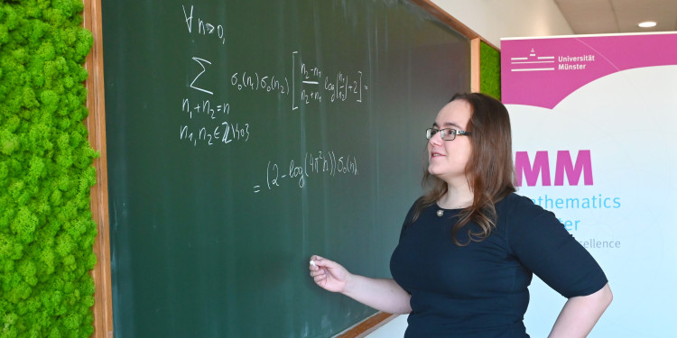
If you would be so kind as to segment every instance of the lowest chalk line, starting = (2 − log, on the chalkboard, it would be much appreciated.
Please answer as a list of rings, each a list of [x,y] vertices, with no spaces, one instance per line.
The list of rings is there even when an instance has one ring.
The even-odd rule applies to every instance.
[[[265,184],[254,186],[254,192],[261,192],[265,188],[274,190],[287,181],[298,187],[305,187],[306,180],[312,176],[325,175],[334,178],[358,174],[355,156],[337,156],[334,151],[306,152],[302,160],[290,160],[289,164],[285,162],[280,165],[269,160],[265,168]]]

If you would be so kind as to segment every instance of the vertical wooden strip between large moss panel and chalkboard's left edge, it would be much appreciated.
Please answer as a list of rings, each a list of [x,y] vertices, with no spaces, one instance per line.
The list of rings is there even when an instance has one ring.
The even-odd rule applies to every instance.
[[[88,78],[87,107],[85,120],[89,131],[89,143],[99,157],[94,160],[97,169],[97,184],[91,188],[91,210],[97,223],[97,239],[94,253],[97,265],[91,271],[94,279],[94,337],[113,337],[113,293],[110,276],[110,241],[108,232],[108,171],[106,153],[106,109],[104,99],[104,60],[101,40],[101,0],[84,0],[83,25],[94,37],[94,44],[85,60]]]

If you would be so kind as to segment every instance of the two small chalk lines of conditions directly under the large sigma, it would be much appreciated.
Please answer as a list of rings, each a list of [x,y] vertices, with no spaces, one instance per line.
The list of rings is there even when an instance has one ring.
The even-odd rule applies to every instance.
[[[212,103],[209,100],[190,101],[184,98],[181,112],[188,116],[188,123],[181,123],[179,140],[193,146],[247,142],[250,136],[249,123],[233,121],[230,105]]]

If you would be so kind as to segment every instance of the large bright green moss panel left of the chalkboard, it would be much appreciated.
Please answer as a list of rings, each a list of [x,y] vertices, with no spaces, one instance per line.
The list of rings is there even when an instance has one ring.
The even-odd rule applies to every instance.
[[[81,1],[0,2],[0,337],[88,337],[97,156]]]

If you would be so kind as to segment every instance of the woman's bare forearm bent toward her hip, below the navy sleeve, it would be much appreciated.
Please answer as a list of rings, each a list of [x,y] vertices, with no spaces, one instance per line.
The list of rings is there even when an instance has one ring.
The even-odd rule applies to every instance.
[[[583,338],[588,336],[599,317],[611,304],[612,299],[613,295],[608,283],[592,295],[569,298],[561,309],[548,337]]]

